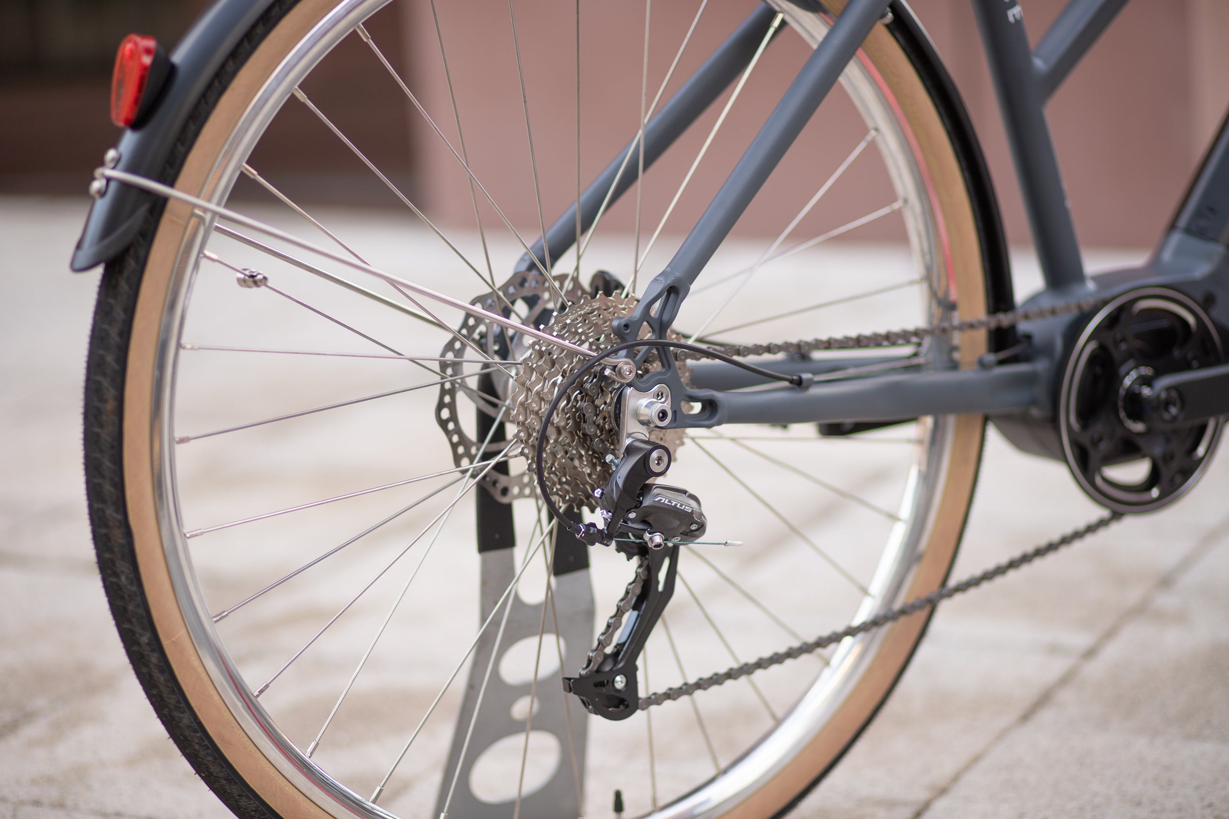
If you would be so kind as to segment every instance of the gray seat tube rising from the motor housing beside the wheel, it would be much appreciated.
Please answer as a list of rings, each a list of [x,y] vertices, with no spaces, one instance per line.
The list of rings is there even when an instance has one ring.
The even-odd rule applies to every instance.
[[[1015,176],[1048,290],[1089,286],[1019,5],[973,0]]]

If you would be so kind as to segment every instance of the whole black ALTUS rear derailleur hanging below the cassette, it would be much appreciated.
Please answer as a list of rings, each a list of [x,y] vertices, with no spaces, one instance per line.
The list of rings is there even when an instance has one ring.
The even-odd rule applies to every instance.
[[[699,499],[685,489],[654,483],[670,469],[670,449],[629,437],[606,485],[595,490],[605,523],[586,523],[579,538],[602,543],[635,560],[614,614],[589,652],[579,675],[564,678],[590,713],[626,720],[639,706],[637,659],[675,591],[678,546],[703,537],[708,526]]]

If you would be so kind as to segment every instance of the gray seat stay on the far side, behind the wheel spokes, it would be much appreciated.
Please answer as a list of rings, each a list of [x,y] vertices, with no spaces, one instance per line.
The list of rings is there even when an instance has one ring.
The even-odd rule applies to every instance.
[[[767,5],[760,5],[751,15],[730,34],[715,52],[713,52],[704,64],[688,77],[687,82],[661,107],[661,111],[648,122],[644,128],[644,167],[648,169],[666,149],[675,144],[675,140],[691,128],[692,123],[713,102],[721,96],[739,74],[747,68],[756,49],[760,48],[764,33],[772,25],[777,11]],[[597,211],[606,199],[607,192],[613,185],[611,204],[635,183],[639,176],[639,163],[623,160],[632,151],[638,151],[637,140],[628,142],[627,147],[619,151],[618,156],[611,160],[610,165],[589,183],[584,193],[580,194],[580,230],[587,231],[597,219]],[[619,168],[623,173],[619,174]],[[616,176],[618,182],[616,183]],[[546,232],[549,242],[551,259],[558,259],[576,241],[576,203],[563,212],[559,219],[551,225]],[[546,264],[542,253],[542,238],[530,248],[533,257]],[[521,255],[516,263],[514,273],[526,273],[536,265],[530,253]]]

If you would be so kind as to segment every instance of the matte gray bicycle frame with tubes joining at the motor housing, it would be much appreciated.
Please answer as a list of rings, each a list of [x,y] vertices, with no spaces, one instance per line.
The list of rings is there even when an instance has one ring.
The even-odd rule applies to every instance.
[[[1045,103],[1126,2],[1070,0],[1032,50],[1016,0],[972,0],[1046,284],[1045,290],[1025,306],[1070,301],[1093,292],[1112,296],[1132,286],[1164,284],[1202,301],[1224,325],[1229,323],[1229,131],[1224,125],[1152,259],[1138,269],[1115,271],[1095,280],[1084,273]],[[834,17],[828,34],[806,60],[675,257],[648,285],[637,311],[614,328],[623,340],[637,338],[645,323],[655,338],[665,336],[697,275],[839,79],[846,64],[854,58],[873,27],[887,20],[893,6],[903,10],[900,0],[849,0]],[[746,66],[756,43],[768,33],[773,11],[761,6],[753,12],[648,123],[645,167]],[[635,180],[637,162],[628,160],[637,150],[638,142],[633,140],[581,195],[579,205],[569,209],[547,231],[551,258],[558,258],[575,237],[578,206],[581,228],[587,230],[610,195],[607,192],[613,190],[617,196]],[[543,257],[541,239],[531,252]],[[517,269],[528,270],[533,265],[535,260],[526,254]],[[703,409],[696,414],[676,411],[672,426],[685,427],[730,422],[884,422],[946,413],[987,414],[1016,446],[1061,459],[1056,441],[1039,442],[1037,427],[1052,430],[1054,376],[1064,361],[1063,336],[1072,320],[1074,317],[1020,325],[1021,336],[1029,340],[1026,355],[1020,356],[1026,360],[1003,363],[989,355],[983,356],[977,370],[936,368],[815,383],[805,389],[735,393],[724,390],[762,382],[747,381],[745,373],[736,373],[726,365],[701,365],[693,368],[693,388],[678,382],[672,370],[654,373],[640,388],[648,389],[650,382],[666,382],[676,400],[701,404]],[[782,362],[771,368],[821,376],[864,366],[866,361],[828,359]],[[1224,409],[1229,411],[1229,405]],[[1041,430],[1041,438],[1052,438],[1050,430]]]

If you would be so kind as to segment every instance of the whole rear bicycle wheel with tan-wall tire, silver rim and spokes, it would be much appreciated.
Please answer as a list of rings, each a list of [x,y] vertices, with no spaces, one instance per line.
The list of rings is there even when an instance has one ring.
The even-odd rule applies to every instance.
[[[672,194],[693,179],[701,139],[709,129],[721,135],[723,106],[696,125],[693,146],[646,172],[643,195],[629,192],[581,238],[581,253],[508,279],[499,271],[537,235],[524,226],[562,211],[578,187],[576,156],[587,162],[556,138],[608,129],[608,119],[584,122],[607,113],[585,101],[605,97],[581,86],[581,117],[535,123],[521,88],[532,95],[536,76],[567,61],[565,48],[526,43],[542,21],[517,20],[508,44],[515,60],[493,76],[484,38],[511,38],[511,21],[430,5],[403,20],[440,34],[447,69],[435,54],[434,68],[419,65],[402,85],[360,28],[383,5],[275,4],[202,99],[179,139],[186,152],[163,178],[521,320],[546,324],[563,300],[595,303],[583,291],[599,266],[634,298],[672,242],[662,226],[686,228],[677,215],[667,222],[685,200]],[[516,12],[531,15],[528,6]],[[826,18],[780,10],[775,22],[789,31],[764,54],[805,56]],[[307,208],[286,194],[291,180],[261,171],[258,160],[277,153],[269,142],[295,139],[305,123],[365,161],[313,101],[315,72],[355,41],[372,82],[413,92],[407,109],[422,139],[446,133],[456,150],[441,151],[446,168],[425,171],[433,184],[457,183],[436,203],[439,225]],[[483,68],[467,71],[466,56]],[[611,82],[601,54],[581,49],[576,59],[579,79]],[[755,85],[755,69],[740,92],[747,99],[773,91]],[[645,114],[666,85],[648,76],[627,77]],[[495,91],[511,102],[492,102]],[[842,141],[848,134],[825,134],[822,123],[804,133],[774,179],[805,179],[806,193],[784,217],[748,214],[761,220],[748,233],[777,223],[768,239],[728,242],[714,258],[676,322],[686,336],[758,343],[984,314],[970,184],[897,36],[878,27],[833,97],[822,111],[855,111],[857,134]],[[426,112],[434,124],[415,108],[423,101],[436,104]],[[467,129],[490,109],[522,112],[520,130],[503,122]],[[514,150],[524,172],[500,177]],[[461,155],[487,184],[469,184]],[[842,189],[842,174],[859,163],[874,168]],[[707,184],[704,174],[694,179]],[[253,190],[264,204],[249,204]],[[868,206],[874,195],[882,200]],[[393,196],[422,216],[404,190]],[[478,220],[454,225],[449,196]],[[825,244],[885,223],[898,239],[886,249]],[[576,817],[603,813],[619,788],[635,814],[771,817],[831,769],[890,693],[925,615],[622,722],[589,717],[559,677],[583,664],[630,570],[601,548],[557,543],[524,476],[508,408],[524,346],[499,347],[490,328],[336,258],[254,237],[182,201],[152,215],[104,275],[86,395],[91,518],[117,624],[167,729],[231,809]],[[939,336],[863,363],[950,366],[984,350],[980,334]],[[682,555],[680,588],[640,663],[640,691],[936,588],[959,544],[982,429],[980,416],[943,416],[852,436],[795,425],[675,441],[670,483],[696,492],[710,523]]]

